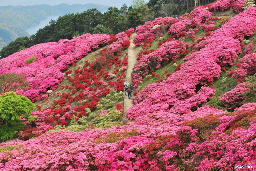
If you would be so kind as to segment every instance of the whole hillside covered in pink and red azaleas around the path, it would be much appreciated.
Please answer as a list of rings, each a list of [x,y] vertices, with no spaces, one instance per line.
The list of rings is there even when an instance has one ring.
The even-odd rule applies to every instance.
[[[235,17],[213,15],[225,10]],[[141,49],[123,124],[134,31]],[[35,103],[37,119],[0,144],[0,170],[256,170],[255,52],[254,2],[219,0],[4,58],[0,75],[24,75],[16,93]]]

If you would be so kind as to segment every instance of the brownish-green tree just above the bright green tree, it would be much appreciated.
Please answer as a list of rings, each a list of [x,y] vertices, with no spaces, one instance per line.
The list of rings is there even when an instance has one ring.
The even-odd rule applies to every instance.
[[[2,74],[0,75],[0,94],[7,91],[16,91],[18,89],[26,89],[28,82],[24,81],[23,74]]]

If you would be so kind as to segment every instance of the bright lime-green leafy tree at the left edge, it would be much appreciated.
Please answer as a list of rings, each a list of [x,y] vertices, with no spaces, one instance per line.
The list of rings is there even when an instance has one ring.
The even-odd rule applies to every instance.
[[[0,142],[12,138],[22,126],[21,118],[31,122],[30,114],[35,105],[25,96],[6,92],[0,96]]]

